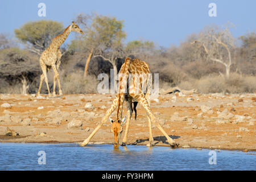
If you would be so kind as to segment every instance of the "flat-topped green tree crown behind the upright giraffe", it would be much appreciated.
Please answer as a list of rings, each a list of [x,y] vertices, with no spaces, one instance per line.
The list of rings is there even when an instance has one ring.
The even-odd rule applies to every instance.
[[[64,31],[63,23],[52,20],[38,20],[37,22],[28,22],[19,29],[15,29],[15,36],[29,51],[38,55],[51,44],[55,36]]]

